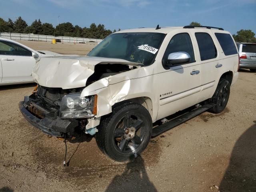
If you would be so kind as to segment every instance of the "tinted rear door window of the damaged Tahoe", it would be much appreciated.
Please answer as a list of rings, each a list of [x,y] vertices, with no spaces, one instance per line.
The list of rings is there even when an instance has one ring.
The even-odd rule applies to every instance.
[[[201,61],[216,58],[217,51],[211,36],[208,33],[195,33],[195,35]]]

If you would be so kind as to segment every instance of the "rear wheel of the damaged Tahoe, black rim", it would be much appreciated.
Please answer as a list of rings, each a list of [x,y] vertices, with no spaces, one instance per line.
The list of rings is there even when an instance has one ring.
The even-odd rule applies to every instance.
[[[228,103],[229,94],[230,83],[226,79],[220,80],[216,91],[214,92],[214,95],[210,99],[210,102],[216,105],[213,108],[210,108],[209,112],[212,112],[214,114],[222,112]]]

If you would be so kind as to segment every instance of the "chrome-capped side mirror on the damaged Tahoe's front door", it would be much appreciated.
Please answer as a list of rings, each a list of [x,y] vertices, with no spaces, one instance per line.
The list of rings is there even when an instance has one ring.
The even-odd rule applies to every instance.
[[[168,55],[168,59],[164,60],[164,65],[170,67],[190,62],[190,55],[187,52],[175,52]]]

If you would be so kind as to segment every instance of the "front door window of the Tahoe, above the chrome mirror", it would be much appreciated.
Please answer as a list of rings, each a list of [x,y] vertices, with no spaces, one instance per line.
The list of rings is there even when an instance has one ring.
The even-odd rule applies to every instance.
[[[173,36],[164,53],[164,59],[167,59],[168,55],[174,52],[187,52],[190,55],[190,63],[195,61],[194,50],[189,34],[180,33]]]

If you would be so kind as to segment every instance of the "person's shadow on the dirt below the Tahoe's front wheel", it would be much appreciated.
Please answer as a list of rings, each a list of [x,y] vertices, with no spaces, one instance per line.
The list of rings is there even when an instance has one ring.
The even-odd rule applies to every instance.
[[[105,192],[126,191],[157,192],[154,184],[148,178],[144,160],[141,156],[128,162],[124,172],[113,178]]]

